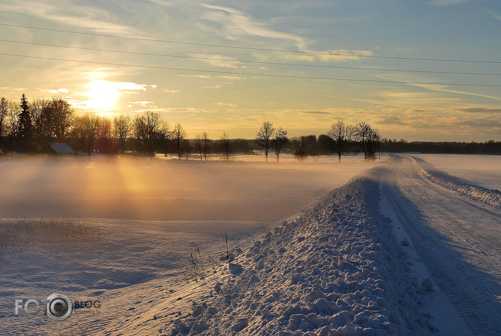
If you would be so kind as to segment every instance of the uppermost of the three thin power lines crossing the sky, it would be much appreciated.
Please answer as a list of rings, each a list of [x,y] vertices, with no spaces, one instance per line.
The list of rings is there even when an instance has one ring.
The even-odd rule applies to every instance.
[[[161,40],[161,39],[157,39],[157,38],[144,38],[144,37],[135,37],[135,36],[118,36],[118,35],[111,35],[111,34],[89,33],[89,32],[85,32],[85,31],[73,31],[73,30],[52,29],[52,28],[42,28],[42,27],[30,27],[30,26],[24,26],[24,25],[11,25],[8,23],[0,23],[0,25],[7,26],[7,27],[38,29],[38,30],[45,30],[45,31],[57,31],[60,33],[68,33],[68,34],[81,34],[81,35],[103,36],[103,37],[112,37],[112,38],[126,38],[126,39],[132,39],[132,40],[137,40],[137,41],[177,43],[177,44],[184,44],[184,45],[199,45],[199,46],[206,46],[206,47],[232,48],[232,49],[242,49],[242,50],[290,52],[290,53],[296,53],[296,54],[310,54],[310,55],[324,55],[324,56],[332,55],[332,56],[348,56],[348,57],[371,57],[371,58],[380,58],[380,59],[407,59],[407,60],[412,60],[412,61],[469,62],[469,63],[501,64],[501,61],[476,61],[473,59],[439,59],[439,58],[359,55],[359,54],[353,54],[353,53],[349,54],[349,53],[319,52],[319,51],[305,51],[305,50],[280,50],[280,49],[271,49],[271,48],[242,47],[242,46],[237,46],[237,45],[222,45],[222,44],[211,44],[211,43],[195,43],[195,42],[186,42],[186,41]]]

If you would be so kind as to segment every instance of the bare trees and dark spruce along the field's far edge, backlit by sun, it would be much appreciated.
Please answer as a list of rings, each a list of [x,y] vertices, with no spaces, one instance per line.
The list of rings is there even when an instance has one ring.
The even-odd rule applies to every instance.
[[[371,125],[363,122],[345,125],[342,121],[331,125],[318,138],[315,135],[289,138],[287,130],[265,122],[255,139],[230,139],[226,132],[217,140],[210,139],[207,132],[188,139],[179,123],[171,126],[158,112],[110,119],[95,113],[77,116],[71,104],[61,97],[28,102],[22,94],[20,103],[5,97],[0,101],[0,148],[10,153],[36,153],[48,142],[67,142],[75,151],[88,155],[163,153],[177,155],[179,160],[190,155],[200,160],[213,155],[232,160],[235,153],[261,151],[266,161],[268,155],[275,155],[278,162],[282,153],[292,153],[300,161],[334,153],[341,161],[341,155],[362,152],[366,160],[373,160],[379,140],[379,132]]]

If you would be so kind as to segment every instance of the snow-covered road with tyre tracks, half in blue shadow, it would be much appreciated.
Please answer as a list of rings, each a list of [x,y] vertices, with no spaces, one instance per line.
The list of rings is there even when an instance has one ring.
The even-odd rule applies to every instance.
[[[474,335],[501,333],[501,211],[423,176],[401,156],[381,188],[434,282]]]

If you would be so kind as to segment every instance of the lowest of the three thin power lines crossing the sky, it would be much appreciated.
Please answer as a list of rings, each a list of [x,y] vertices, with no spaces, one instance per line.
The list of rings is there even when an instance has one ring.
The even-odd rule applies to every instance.
[[[282,75],[282,74],[274,74],[274,73],[246,73],[246,72],[217,71],[217,70],[185,69],[185,68],[174,68],[174,67],[170,67],[170,66],[122,64],[122,63],[111,63],[111,62],[83,61],[83,60],[79,60],[79,59],[64,59],[64,58],[40,57],[40,56],[29,56],[29,55],[14,55],[14,54],[7,54],[4,52],[0,52],[0,55],[12,56],[12,57],[25,57],[25,58],[32,58],[32,59],[48,59],[48,60],[53,60],[53,61],[64,61],[64,62],[77,62],[77,63],[86,63],[86,64],[130,66],[130,67],[135,67],[135,68],[146,68],[146,69],[163,69],[163,70],[177,70],[177,71],[191,71],[191,72],[221,73],[221,74],[226,74],[226,75],[266,76],[266,77],[320,79],[320,80],[341,80],[341,81],[350,81],[350,82],[370,82],[370,83],[417,84],[417,85],[456,85],[456,86],[469,86],[469,87],[501,87],[501,85],[490,85],[490,84],[404,82],[404,81],[399,81],[399,80],[329,78],[329,77]]]

